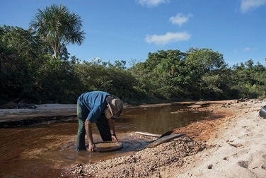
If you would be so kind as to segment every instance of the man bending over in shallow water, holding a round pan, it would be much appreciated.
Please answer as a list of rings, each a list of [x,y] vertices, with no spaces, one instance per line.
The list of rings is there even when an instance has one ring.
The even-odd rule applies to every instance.
[[[106,92],[93,91],[83,93],[77,102],[77,117],[79,130],[77,150],[86,150],[85,134],[88,137],[88,151],[96,148],[93,142],[91,125],[96,123],[103,141],[117,141],[115,135],[115,118],[119,117],[123,109],[122,101]]]

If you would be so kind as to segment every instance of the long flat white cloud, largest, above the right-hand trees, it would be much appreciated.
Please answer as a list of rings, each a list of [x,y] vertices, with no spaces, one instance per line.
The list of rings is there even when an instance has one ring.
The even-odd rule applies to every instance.
[[[146,35],[145,41],[156,45],[166,45],[170,42],[190,40],[191,35],[187,32],[167,32],[165,35]]]

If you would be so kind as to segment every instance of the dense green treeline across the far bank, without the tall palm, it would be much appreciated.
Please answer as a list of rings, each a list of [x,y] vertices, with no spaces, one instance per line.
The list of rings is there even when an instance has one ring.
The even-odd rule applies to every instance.
[[[76,103],[81,93],[103,90],[132,104],[262,97],[266,69],[253,60],[229,67],[212,49],[149,53],[144,62],[61,58],[36,32],[0,26],[0,103],[21,98],[36,104]]]

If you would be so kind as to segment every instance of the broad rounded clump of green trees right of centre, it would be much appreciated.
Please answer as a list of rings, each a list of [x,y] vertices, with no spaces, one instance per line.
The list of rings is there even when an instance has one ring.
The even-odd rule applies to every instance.
[[[138,86],[163,100],[229,97],[226,64],[212,49],[190,49],[149,53],[148,59],[130,69]]]

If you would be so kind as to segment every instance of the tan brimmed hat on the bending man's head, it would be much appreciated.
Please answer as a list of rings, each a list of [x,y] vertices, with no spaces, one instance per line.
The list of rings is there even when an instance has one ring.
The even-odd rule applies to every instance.
[[[123,103],[119,97],[112,95],[112,98],[108,101],[108,105],[112,114],[112,117],[117,118],[120,116],[123,110]]]

